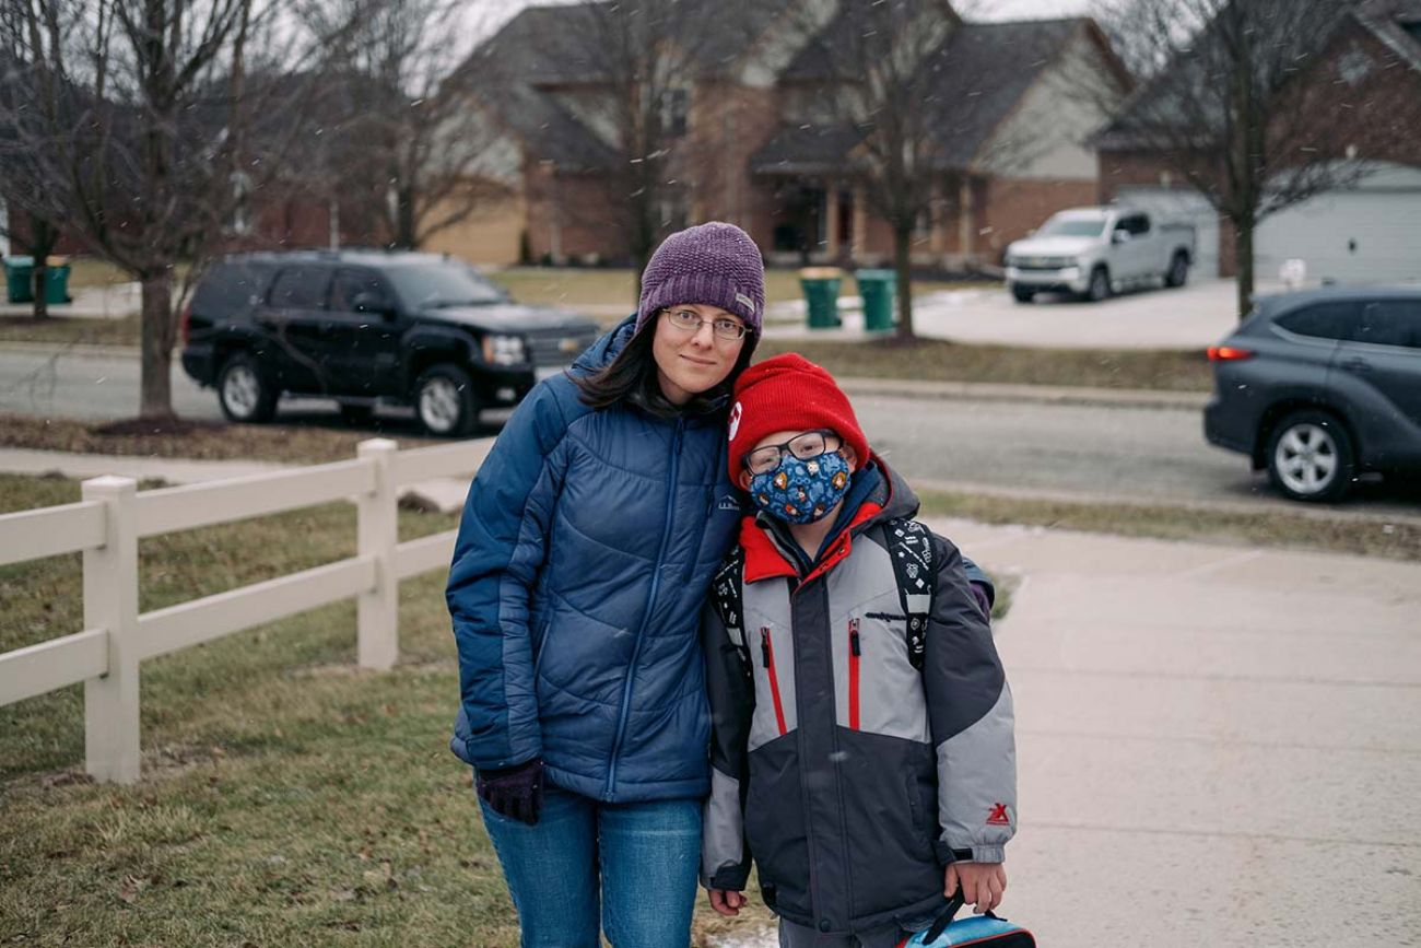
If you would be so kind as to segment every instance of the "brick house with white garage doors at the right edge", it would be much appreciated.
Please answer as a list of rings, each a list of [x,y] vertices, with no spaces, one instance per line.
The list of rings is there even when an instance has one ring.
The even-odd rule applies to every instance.
[[[1289,129],[1309,156],[1324,156],[1356,178],[1265,217],[1255,230],[1262,279],[1285,260],[1302,259],[1310,277],[1390,281],[1421,277],[1421,0],[1371,0],[1340,10],[1317,34],[1297,37],[1292,80],[1312,136]],[[1310,48],[1304,44],[1310,44]],[[1189,217],[1199,235],[1195,273],[1233,276],[1235,239],[1209,200],[1181,181],[1178,168],[1133,134],[1138,91],[1096,139],[1103,200],[1123,200]],[[1283,121],[1283,119],[1279,119]]]

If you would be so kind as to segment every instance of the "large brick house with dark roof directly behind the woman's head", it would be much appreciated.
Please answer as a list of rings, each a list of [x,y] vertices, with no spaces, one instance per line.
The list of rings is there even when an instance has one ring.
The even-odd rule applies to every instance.
[[[627,257],[605,225],[617,203],[607,188],[615,132],[585,108],[595,81],[576,53],[588,10],[530,7],[489,40],[493,55],[517,64],[519,81],[483,98],[502,131],[483,172],[509,199],[433,249],[489,263]],[[892,237],[855,181],[858,132],[821,94],[818,37],[804,17],[800,0],[749,4],[664,102],[685,158],[662,223],[730,220],[772,263],[881,263]],[[845,14],[821,23],[824,34],[850,26]],[[1052,212],[1096,200],[1097,159],[1083,142],[1106,115],[1071,94],[1069,74],[1088,68],[1124,84],[1124,72],[1088,18],[972,23],[949,10],[938,26],[941,176],[912,256],[990,266]]]

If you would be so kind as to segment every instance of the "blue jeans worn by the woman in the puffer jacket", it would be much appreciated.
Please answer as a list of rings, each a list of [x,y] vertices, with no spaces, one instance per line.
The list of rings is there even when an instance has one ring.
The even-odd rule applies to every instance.
[[[598,803],[549,787],[537,826],[479,806],[523,948],[598,948],[600,928],[612,948],[691,944],[699,800]]]

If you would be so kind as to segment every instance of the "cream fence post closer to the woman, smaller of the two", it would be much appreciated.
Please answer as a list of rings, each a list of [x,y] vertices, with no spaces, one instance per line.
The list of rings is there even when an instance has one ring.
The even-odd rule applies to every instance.
[[[395,490],[395,453],[389,438],[360,443],[358,456],[375,465],[375,492],[357,500],[357,537],[361,556],[375,557],[375,588],[361,593],[357,648],[361,668],[388,671],[399,658],[399,576],[395,547],[399,546],[399,509]]]

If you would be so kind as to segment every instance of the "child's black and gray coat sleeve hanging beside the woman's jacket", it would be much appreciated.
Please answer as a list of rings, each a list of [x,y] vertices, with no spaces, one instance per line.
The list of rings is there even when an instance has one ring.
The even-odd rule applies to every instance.
[[[710,796],[706,797],[701,840],[701,883],[706,888],[742,891],[750,878],[750,849],[745,841],[745,792],[755,686],[745,661],[708,603],[701,613],[710,699]]]

